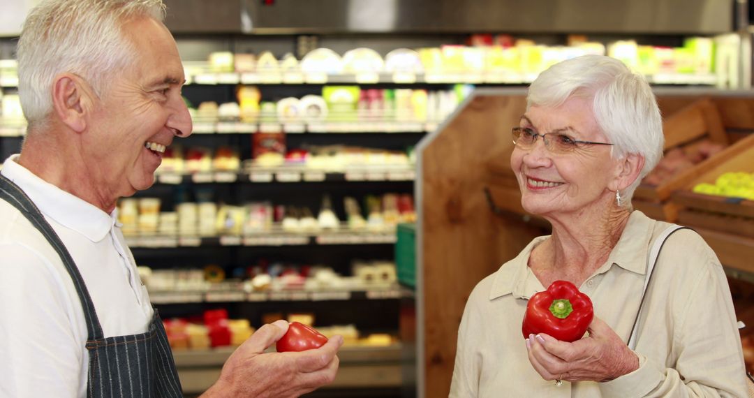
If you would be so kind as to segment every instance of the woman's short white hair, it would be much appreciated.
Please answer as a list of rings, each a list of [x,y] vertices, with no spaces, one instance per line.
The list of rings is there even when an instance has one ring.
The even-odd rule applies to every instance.
[[[644,157],[639,178],[621,192],[622,205],[630,207],[636,186],[663,154],[662,117],[651,87],[642,75],[615,58],[584,55],[542,72],[529,86],[526,107],[556,107],[571,96],[593,98],[594,118],[614,144],[613,158],[628,153]]]

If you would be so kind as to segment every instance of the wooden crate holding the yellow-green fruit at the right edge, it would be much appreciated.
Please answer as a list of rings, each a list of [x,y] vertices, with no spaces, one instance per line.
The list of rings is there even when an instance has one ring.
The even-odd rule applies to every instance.
[[[754,201],[692,191],[700,183],[714,184],[728,172],[754,173],[754,134],[720,152],[724,162],[698,173],[674,191],[678,222],[699,232],[723,265],[754,275]]]

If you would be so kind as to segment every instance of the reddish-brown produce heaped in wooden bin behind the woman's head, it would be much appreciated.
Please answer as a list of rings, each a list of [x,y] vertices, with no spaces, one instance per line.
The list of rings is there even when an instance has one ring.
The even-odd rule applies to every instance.
[[[660,159],[657,166],[644,177],[642,183],[661,185],[683,170],[693,167],[694,164],[699,164],[723,149],[725,149],[725,145],[712,142],[709,139],[703,139],[700,142],[685,145],[681,148],[670,149]]]

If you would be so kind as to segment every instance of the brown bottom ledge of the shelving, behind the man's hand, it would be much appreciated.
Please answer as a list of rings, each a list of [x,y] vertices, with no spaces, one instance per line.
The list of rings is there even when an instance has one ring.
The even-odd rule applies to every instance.
[[[201,393],[219,377],[220,369],[234,348],[204,351],[173,351],[183,393]],[[338,352],[338,375],[325,389],[353,387],[400,387],[402,344],[386,347],[345,345]]]

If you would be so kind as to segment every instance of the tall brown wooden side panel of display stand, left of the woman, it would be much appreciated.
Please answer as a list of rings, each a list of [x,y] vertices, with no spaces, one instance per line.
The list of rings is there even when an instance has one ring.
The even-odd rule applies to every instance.
[[[478,91],[417,151],[418,396],[448,396],[471,289],[545,233],[524,221],[510,170],[510,129],[525,112],[526,93],[493,92]]]

